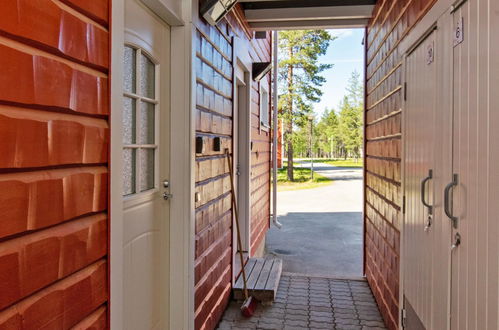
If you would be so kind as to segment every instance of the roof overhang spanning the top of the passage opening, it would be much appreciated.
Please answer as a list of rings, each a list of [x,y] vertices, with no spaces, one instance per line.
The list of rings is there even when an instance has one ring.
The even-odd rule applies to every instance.
[[[239,0],[255,31],[364,27],[376,0]]]

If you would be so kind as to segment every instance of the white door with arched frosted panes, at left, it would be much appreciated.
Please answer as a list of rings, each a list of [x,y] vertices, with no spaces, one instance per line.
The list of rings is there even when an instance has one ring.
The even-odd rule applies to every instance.
[[[170,28],[125,1],[123,100],[124,327],[168,320]]]

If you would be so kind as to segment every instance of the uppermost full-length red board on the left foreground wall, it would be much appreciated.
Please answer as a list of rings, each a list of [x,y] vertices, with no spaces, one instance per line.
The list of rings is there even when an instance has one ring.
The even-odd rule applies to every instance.
[[[109,65],[107,31],[52,0],[0,1],[0,12],[0,34],[102,69]]]

